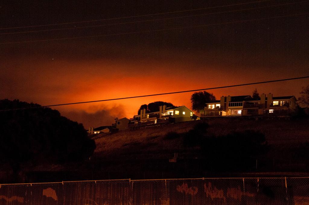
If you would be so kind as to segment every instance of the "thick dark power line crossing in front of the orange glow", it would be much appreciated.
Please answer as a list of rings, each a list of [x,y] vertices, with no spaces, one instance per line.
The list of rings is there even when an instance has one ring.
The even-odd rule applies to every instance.
[[[94,100],[94,101],[86,101],[86,102],[71,102],[71,103],[64,103],[64,104],[44,105],[44,106],[40,106],[40,107],[55,107],[55,106],[63,106],[63,105],[84,104],[84,103],[91,103],[91,102],[104,102],[104,101],[112,101],[112,100],[123,100],[123,99],[130,99],[130,98],[143,98],[143,97],[150,97],[150,96],[157,96],[157,95],[169,95],[169,94],[195,92],[195,91],[201,91],[201,90],[214,90],[214,89],[230,88],[230,87],[237,87],[237,86],[249,86],[249,85],[256,85],[256,84],[263,84],[263,83],[270,83],[270,82],[290,81],[290,80],[298,80],[298,79],[303,79],[303,78],[309,78],[309,76],[286,78],[286,79],[263,81],[263,82],[245,83],[245,84],[238,84],[238,85],[231,85],[231,86],[220,86],[220,87],[212,87],[212,88],[203,88],[203,89],[196,89],[196,90],[185,90],[185,91],[177,91],[177,92],[170,92],[170,93],[140,95],[140,96],[133,96],[133,97],[125,97],[125,98],[113,98],[113,99]],[[16,108],[16,109],[0,110],[0,112],[1,111],[31,109],[31,108],[40,108],[40,107]]]

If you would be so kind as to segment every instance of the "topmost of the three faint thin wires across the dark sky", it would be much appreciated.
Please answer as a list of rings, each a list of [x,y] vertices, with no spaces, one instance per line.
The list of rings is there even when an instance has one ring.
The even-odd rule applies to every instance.
[[[126,16],[126,17],[118,17],[118,18],[110,18],[110,19],[98,19],[98,20],[89,20],[89,21],[77,21],[77,22],[69,22],[69,23],[54,23],[54,24],[44,24],[44,25],[36,25],[36,26],[8,27],[8,28],[0,28],[0,30],[3,30],[3,29],[15,29],[15,28],[41,27],[41,26],[55,26],[55,25],[64,25],[64,24],[73,24],[73,23],[87,23],[87,22],[106,21],[106,20],[116,20],[116,19],[128,19],[128,18],[135,18],[135,17],[153,16],[153,15],[162,15],[162,14],[173,14],[173,13],[180,13],[180,12],[187,12],[187,11],[214,9],[214,8],[220,8],[220,7],[237,6],[237,5],[244,5],[244,4],[251,4],[251,3],[259,3],[259,2],[268,2],[268,1],[271,1],[271,0],[262,0],[262,1],[254,1],[254,2],[245,2],[245,3],[229,4],[229,5],[223,5],[223,6],[213,6],[213,7],[199,8],[199,9],[171,11],[171,12],[155,13],[155,14],[146,14],[146,15]]]

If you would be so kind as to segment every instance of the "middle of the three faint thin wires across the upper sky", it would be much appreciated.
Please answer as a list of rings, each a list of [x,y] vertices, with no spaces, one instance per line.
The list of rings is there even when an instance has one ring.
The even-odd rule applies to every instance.
[[[91,27],[103,27],[103,26],[113,26],[113,25],[130,24],[130,23],[143,23],[143,22],[153,22],[153,21],[161,21],[161,20],[170,20],[170,19],[181,19],[181,18],[187,18],[187,17],[205,16],[205,15],[213,15],[213,14],[223,14],[223,13],[229,13],[229,12],[237,12],[237,11],[245,11],[245,10],[253,10],[253,9],[262,9],[262,8],[269,8],[269,7],[276,7],[276,6],[285,6],[285,5],[297,4],[297,3],[303,3],[303,2],[308,2],[308,0],[307,0],[307,1],[301,1],[301,2],[292,2],[292,3],[285,3],[285,4],[277,4],[277,5],[271,5],[271,6],[260,6],[260,7],[248,8],[248,9],[221,11],[221,12],[214,12],[214,13],[207,13],[207,14],[186,15],[186,16],[179,16],[179,17],[170,17],[170,18],[162,18],[162,19],[151,19],[151,20],[143,20],[143,21],[130,21],[130,22],[123,22],[123,23],[111,23],[111,24],[93,25],[93,26],[81,26],[81,27],[70,27],[70,28],[56,28],[56,29],[36,30],[36,31],[7,32],[7,33],[0,33],[0,35],[5,35],[5,34],[19,34],[19,33],[34,33],[34,32],[43,32],[43,31],[60,31],[60,30],[69,30],[69,29],[80,29],[80,28],[91,28]]]

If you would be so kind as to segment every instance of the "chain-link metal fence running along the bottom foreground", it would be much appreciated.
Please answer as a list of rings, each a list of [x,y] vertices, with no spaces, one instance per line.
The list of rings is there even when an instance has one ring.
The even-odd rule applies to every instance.
[[[309,204],[309,177],[1,184],[0,205]]]

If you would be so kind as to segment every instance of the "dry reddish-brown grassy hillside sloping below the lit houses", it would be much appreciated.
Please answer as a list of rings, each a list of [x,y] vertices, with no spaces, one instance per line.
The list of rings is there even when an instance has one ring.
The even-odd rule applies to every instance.
[[[248,129],[265,134],[267,142],[276,148],[270,154],[277,155],[282,149],[292,149],[309,140],[309,119],[294,120],[248,120],[239,118],[210,119],[207,132],[209,135],[221,136],[233,131]],[[176,123],[160,127],[145,128],[134,131],[121,131],[114,134],[95,136],[95,156],[102,158],[166,158],[174,152],[184,153],[187,157],[195,155],[198,148],[185,148],[183,140],[167,140],[164,136],[168,132],[184,133],[193,129],[197,121]]]

